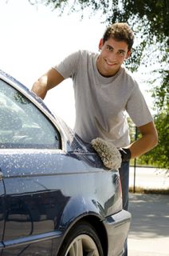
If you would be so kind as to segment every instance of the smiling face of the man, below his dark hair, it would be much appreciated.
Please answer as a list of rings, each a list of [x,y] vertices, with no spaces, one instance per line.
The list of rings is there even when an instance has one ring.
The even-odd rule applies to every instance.
[[[104,77],[111,77],[120,69],[121,64],[130,56],[128,44],[124,41],[116,41],[109,38],[104,42],[100,40],[100,55],[97,58],[96,66]]]

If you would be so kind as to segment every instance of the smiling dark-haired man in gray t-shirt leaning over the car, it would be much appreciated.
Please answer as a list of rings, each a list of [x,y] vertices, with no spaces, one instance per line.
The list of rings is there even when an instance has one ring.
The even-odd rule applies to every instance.
[[[45,98],[47,91],[65,78],[73,79],[76,133],[86,142],[99,137],[120,149],[124,210],[128,210],[129,160],[151,150],[158,140],[138,83],[123,66],[131,54],[133,41],[134,35],[128,24],[112,24],[100,39],[99,54],[79,50],[69,55],[42,75],[32,88],[34,93]],[[126,112],[142,135],[132,144]]]

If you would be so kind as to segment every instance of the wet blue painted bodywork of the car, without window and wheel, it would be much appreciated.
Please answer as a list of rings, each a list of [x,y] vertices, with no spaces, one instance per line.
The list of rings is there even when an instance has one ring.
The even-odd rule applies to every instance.
[[[118,170],[104,167],[90,143],[25,86],[2,71],[0,78],[26,97],[24,104],[32,102],[61,139],[56,149],[19,148],[19,144],[0,148],[1,255],[56,256],[69,230],[88,217],[106,230],[108,256],[122,254],[131,216],[122,210]]]

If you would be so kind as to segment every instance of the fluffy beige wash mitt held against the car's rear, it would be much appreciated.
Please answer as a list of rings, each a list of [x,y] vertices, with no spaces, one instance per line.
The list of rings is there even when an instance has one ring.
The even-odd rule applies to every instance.
[[[92,139],[92,147],[99,154],[108,169],[119,169],[122,158],[119,150],[112,143],[105,142],[102,138]]]

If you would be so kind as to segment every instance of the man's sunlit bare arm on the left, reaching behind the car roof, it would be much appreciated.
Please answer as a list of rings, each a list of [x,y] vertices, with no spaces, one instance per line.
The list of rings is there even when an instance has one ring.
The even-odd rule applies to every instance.
[[[32,91],[42,99],[45,98],[47,91],[61,83],[64,78],[57,70],[50,69],[33,83]]]

